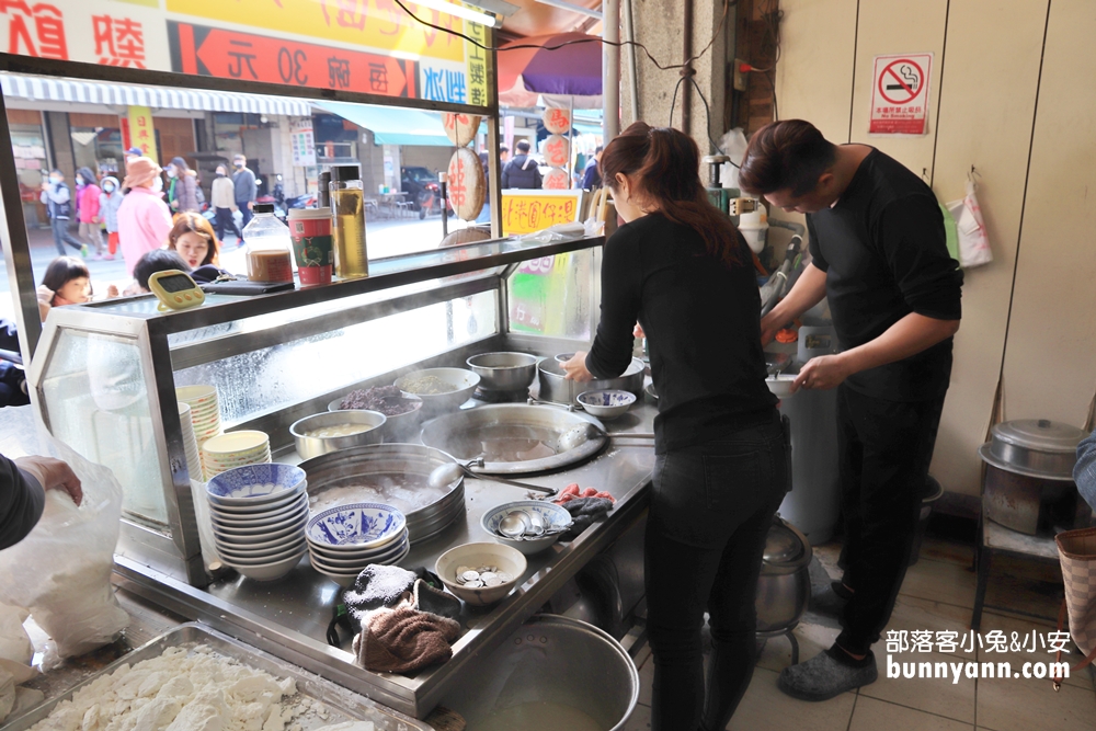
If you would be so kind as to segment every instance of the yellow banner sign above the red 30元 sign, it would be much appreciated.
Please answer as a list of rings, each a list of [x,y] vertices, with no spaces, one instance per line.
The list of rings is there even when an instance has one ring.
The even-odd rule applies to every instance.
[[[464,41],[423,25],[393,0],[167,0],[168,11],[206,21],[307,35],[439,60],[464,61]],[[456,33],[460,19],[403,3],[420,19]],[[468,25],[475,25],[469,23]]]

